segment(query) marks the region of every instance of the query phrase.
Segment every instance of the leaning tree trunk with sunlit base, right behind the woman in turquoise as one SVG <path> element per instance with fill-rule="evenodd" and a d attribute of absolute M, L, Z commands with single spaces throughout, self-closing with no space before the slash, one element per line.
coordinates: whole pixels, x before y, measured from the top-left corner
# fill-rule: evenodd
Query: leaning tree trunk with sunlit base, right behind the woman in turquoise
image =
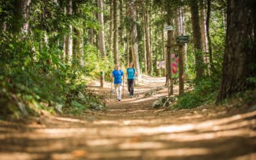
<path fill-rule="evenodd" d="M 138 81 L 141 81 L 141 72 L 140 72 L 140 63 L 139 63 L 139 54 L 138 54 L 138 35 L 137 35 L 137 26 L 136 26 L 136 6 L 134 1 L 127 1 L 129 6 L 129 16 L 131 17 L 131 44 L 132 44 L 132 60 L 134 67 L 138 73 Z"/>

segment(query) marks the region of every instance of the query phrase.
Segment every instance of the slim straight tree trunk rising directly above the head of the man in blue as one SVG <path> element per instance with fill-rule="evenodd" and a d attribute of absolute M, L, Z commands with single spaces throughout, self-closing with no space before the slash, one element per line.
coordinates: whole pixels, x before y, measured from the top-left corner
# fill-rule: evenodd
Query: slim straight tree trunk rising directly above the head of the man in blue
<path fill-rule="evenodd" d="M 114 63 L 118 64 L 119 63 L 119 58 L 118 58 L 118 0 L 113 0 L 113 12 L 114 12 Z"/>

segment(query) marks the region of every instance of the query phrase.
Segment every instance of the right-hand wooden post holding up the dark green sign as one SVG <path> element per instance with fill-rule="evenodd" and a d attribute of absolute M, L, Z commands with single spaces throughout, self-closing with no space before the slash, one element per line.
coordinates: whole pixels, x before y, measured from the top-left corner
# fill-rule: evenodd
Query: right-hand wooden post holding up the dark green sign
<path fill-rule="evenodd" d="M 184 45 L 179 45 L 179 94 L 184 93 Z"/>

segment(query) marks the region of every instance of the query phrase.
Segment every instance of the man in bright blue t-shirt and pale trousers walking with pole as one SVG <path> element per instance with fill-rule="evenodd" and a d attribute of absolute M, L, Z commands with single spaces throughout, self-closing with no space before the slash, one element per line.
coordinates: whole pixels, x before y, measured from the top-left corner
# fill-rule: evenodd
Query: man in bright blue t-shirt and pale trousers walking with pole
<path fill-rule="evenodd" d="M 118 90 L 117 96 L 116 96 L 116 99 L 118 99 L 118 101 L 121 100 L 122 76 L 123 76 L 123 79 L 124 79 L 124 72 L 122 70 L 120 70 L 119 65 L 116 65 L 116 69 L 113 70 L 113 72 L 111 74 L 111 78 L 113 79 L 113 77 L 114 77 L 115 92 L 116 92 L 116 88 Z M 112 79 L 111 79 L 111 81 L 112 81 Z"/>

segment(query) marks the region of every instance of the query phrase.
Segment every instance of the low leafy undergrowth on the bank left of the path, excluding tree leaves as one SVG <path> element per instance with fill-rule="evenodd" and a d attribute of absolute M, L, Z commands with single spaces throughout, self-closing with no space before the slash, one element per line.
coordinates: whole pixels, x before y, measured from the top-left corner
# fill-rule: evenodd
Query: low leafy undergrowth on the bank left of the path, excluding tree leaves
<path fill-rule="evenodd" d="M 45 112 L 80 115 L 86 109 L 106 109 L 104 99 L 88 90 L 84 81 L 84 76 L 92 76 L 100 67 L 85 68 L 76 60 L 65 63 L 58 47 L 35 51 L 35 45 L 31 38 L 20 40 L 13 35 L 0 43 L 0 118 Z M 100 56 L 93 51 L 88 54 Z"/>

